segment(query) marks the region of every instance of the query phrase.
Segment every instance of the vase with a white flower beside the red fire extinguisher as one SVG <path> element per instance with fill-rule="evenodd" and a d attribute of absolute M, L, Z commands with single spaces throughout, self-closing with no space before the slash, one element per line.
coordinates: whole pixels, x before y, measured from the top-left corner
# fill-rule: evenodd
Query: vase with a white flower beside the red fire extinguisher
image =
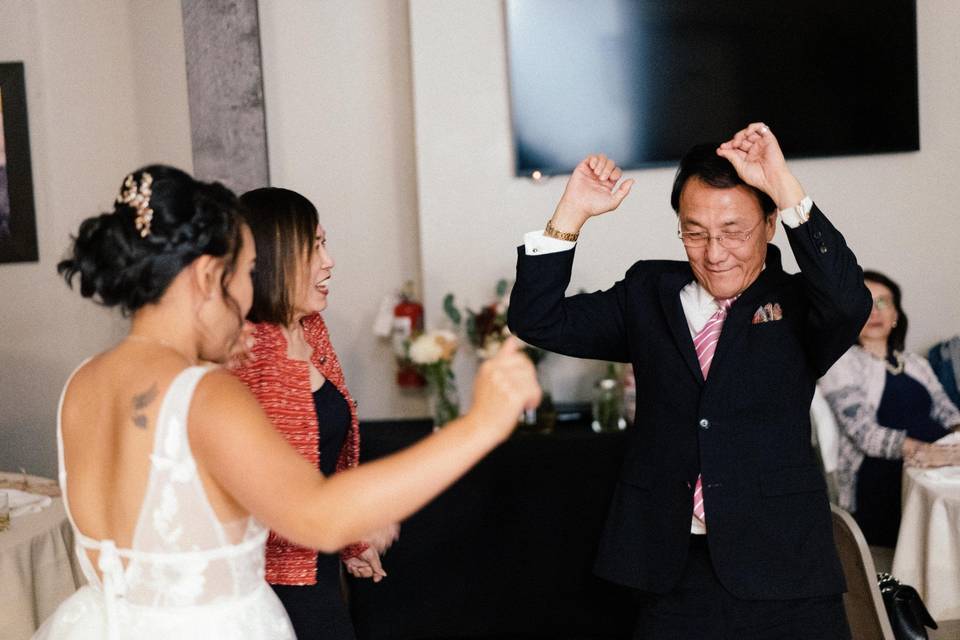
<path fill-rule="evenodd" d="M 460 415 L 457 380 L 451 367 L 456 352 L 457 336 L 451 331 L 423 333 L 410 343 L 410 360 L 427 380 L 435 429 Z"/>

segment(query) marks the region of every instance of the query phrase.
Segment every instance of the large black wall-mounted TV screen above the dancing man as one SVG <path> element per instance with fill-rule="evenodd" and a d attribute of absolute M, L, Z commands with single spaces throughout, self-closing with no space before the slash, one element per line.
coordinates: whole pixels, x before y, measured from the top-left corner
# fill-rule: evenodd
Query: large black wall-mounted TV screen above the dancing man
<path fill-rule="evenodd" d="M 517 175 L 770 126 L 788 157 L 920 148 L 914 0 L 507 0 Z"/>

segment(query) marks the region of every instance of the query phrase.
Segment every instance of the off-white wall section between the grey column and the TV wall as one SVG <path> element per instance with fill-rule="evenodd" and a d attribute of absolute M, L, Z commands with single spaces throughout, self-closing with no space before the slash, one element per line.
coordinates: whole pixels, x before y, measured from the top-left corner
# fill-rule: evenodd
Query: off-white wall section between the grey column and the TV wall
<path fill-rule="evenodd" d="M 362 419 L 426 415 L 373 336 L 419 281 L 406 3 L 260 1 L 270 181 L 307 196 L 336 260 L 324 318 Z"/>

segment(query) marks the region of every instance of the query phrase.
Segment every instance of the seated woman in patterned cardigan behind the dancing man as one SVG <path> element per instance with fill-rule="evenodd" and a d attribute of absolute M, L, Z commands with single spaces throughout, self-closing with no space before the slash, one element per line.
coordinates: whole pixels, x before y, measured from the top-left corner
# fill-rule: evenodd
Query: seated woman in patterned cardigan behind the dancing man
<path fill-rule="evenodd" d="M 872 545 L 893 547 L 900 529 L 903 463 L 960 464 L 960 446 L 930 444 L 960 426 L 960 412 L 925 359 L 904 351 L 900 287 L 864 272 L 873 311 L 852 347 L 820 380 L 840 425 L 837 489 Z"/>

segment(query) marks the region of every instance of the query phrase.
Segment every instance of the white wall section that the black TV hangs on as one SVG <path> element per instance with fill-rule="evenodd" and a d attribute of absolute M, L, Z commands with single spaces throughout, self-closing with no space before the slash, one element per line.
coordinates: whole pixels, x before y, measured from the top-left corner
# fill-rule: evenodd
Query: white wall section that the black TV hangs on
<path fill-rule="evenodd" d="M 917 4 L 921 151 L 791 164 L 861 264 L 901 283 L 908 347 L 925 349 L 960 332 L 960 5 Z M 536 184 L 511 175 L 502 4 L 411 0 L 410 22 L 426 305 L 438 309 L 447 291 L 479 304 L 497 278 L 514 273 L 514 247 L 524 231 L 542 228 L 564 179 Z M 606 288 L 641 257 L 683 258 L 669 204 L 673 169 L 628 177 L 637 184 L 620 211 L 581 235 L 574 290 Z M 777 244 L 786 247 L 782 231 Z M 556 367 L 560 360 L 550 358 Z M 585 395 L 595 369 L 563 368 L 548 375 L 555 394 Z"/>

